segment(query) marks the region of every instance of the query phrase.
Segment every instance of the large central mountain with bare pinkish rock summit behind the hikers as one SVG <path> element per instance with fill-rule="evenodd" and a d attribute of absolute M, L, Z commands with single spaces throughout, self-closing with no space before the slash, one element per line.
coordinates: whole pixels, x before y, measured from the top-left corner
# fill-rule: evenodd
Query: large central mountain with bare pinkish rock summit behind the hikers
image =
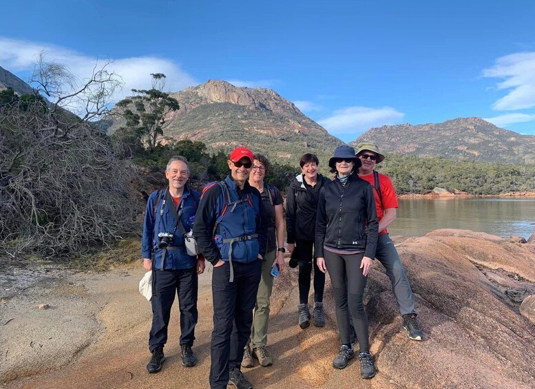
<path fill-rule="evenodd" d="M 326 160 L 343 143 L 273 90 L 211 80 L 171 96 L 180 109 L 172 115 L 165 138 L 200 140 L 225 151 L 246 145 L 277 162 L 293 163 L 306 152 Z M 121 124 L 117 120 L 109 133 Z"/>

